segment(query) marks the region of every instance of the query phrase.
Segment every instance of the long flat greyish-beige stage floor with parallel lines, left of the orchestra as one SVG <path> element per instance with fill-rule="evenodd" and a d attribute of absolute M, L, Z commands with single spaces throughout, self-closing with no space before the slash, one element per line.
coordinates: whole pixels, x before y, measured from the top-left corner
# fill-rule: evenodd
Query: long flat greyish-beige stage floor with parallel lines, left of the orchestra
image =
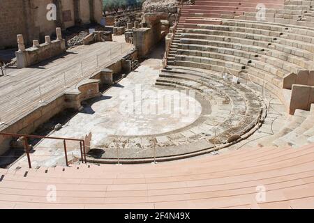
<path fill-rule="evenodd" d="M 82 45 L 36 66 L 8 69 L 7 76 L 0 77 L 0 130 L 118 61 L 132 47 L 115 42 Z"/>

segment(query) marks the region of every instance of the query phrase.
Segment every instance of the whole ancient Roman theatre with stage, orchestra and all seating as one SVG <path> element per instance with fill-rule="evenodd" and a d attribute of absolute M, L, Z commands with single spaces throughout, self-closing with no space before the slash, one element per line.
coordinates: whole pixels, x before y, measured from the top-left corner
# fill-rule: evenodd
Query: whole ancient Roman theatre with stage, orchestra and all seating
<path fill-rule="evenodd" d="M 147 1 L 125 26 L 89 1 L 106 30 L 76 47 L 60 2 L 3 41 L 0 208 L 314 208 L 314 1 Z"/>

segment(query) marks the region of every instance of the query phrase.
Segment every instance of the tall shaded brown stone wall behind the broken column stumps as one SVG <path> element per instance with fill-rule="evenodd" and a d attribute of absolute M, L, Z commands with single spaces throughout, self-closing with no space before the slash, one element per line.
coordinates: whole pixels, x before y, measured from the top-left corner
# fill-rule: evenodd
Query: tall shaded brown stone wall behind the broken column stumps
<path fill-rule="evenodd" d="M 16 47 L 17 34 L 22 34 L 25 43 L 31 45 L 32 40 L 43 40 L 45 36 L 52 35 L 56 27 L 66 29 L 74 26 L 77 20 L 86 24 L 92 22 L 91 18 L 100 22 L 103 17 L 101 0 L 0 1 L 0 49 Z M 48 21 L 46 18 L 49 3 L 57 6 L 57 21 Z"/>

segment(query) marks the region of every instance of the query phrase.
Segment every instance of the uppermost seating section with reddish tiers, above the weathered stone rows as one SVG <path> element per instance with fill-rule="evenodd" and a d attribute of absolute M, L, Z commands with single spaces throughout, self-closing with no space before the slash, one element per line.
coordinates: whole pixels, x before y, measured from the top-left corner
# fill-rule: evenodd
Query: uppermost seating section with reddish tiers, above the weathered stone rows
<path fill-rule="evenodd" d="M 195 1 L 195 5 L 181 7 L 180 19 L 182 23 L 194 24 L 212 24 L 206 18 L 256 21 L 257 11 L 262 6 L 265 7 L 261 11 L 264 16 L 262 20 L 306 27 L 314 25 L 311 1 Z M 186 24 L 179 26 L 184 27 Z"/>

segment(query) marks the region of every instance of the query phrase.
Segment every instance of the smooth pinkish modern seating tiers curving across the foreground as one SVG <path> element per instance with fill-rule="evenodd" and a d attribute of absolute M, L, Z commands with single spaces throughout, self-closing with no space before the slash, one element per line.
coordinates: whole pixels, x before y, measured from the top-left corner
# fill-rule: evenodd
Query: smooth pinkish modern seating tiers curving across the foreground
<path fill-rule="evenodd" d="M 0 169 L 0 208 L 314 208 L 313 174 L 313 144 L 156 165 Z M 260 190 L 265 200 L 255 199 Z"/>

